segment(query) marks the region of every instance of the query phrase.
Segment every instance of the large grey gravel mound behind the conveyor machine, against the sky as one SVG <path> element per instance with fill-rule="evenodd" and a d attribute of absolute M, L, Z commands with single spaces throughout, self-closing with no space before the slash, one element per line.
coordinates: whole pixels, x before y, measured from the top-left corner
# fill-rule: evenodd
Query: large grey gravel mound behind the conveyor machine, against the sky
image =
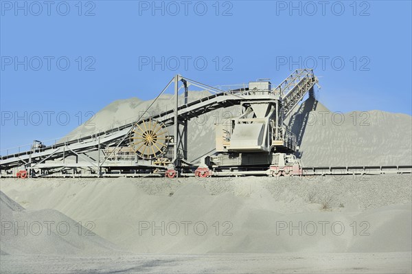
<path fill-rule="evenodd" d="M 191 91 L 189 101 L 209 93 Z M 182 100 L 180 98 L 179 100 Z M 162 95 L 149 113 L 172 108 L 172 95 Z M 117 100 L 69 133 L 68 139 L 94 133 L 102 128 L 135 121 L 152 100 Z M 231 106 L 194 118 L 188 123 L 188 159 L 196 161 L 215 149 L 215 124 L 237 117 L 240 109 Z M 125 121 L 127 119 L 127 121 Z M 412 165 L 412 117 L 385 111 L 332 112 L 321 102 L 308 98 L 286 119 L 297 135 L 297 155 L 305 166 Z M 172 134 L 172 128 L 169 128 Z M 67 139 L 66 138 L 66 139 Z M 201 140 L 201 141 L 199 141 Z"/>

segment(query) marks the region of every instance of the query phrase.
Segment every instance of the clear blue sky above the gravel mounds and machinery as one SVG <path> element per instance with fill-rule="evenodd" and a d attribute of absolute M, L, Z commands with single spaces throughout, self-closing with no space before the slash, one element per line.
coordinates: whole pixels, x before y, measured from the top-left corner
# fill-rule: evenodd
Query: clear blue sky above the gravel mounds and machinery
<path fill-rule="evenodd" d="M 411 115 L 411 1 L 0 4 L 1 149 L 62 137 L 114 100 L 155 98 L 176 73 L 276 85 L 313 67 L 331 111 Z"/>

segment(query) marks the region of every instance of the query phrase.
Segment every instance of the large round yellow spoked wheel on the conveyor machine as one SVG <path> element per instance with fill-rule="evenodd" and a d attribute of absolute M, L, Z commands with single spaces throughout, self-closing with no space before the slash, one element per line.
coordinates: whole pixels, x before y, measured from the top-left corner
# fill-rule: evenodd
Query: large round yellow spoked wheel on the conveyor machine
<path fill-rule="evenodd" d="M 165 153 L 168 144 L 168 129 L 156 120 L 136 123 L 130 133 L 130 146 L 142 159 L 160 157 Z"/>

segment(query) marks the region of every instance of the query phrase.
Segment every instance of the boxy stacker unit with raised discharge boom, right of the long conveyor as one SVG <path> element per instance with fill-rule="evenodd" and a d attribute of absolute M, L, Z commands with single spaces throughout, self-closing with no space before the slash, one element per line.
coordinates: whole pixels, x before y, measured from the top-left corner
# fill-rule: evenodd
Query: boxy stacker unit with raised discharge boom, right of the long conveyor
<path fill-rule="evenodd" d="M 245 171 L 260 168 L 270 176 L 301 175 L 301 164 L 293 155 L 296 137 L 284 118 L 317 82 L 312 71 L 295 71 L 274 90 L 268 81 L 249 82 L 249 88 L 240 93 L 245 97 L 240 102 L 241 115 L 217 126 L 216 151 L 220 153 L 211 155 L 206 165 Z"/>

